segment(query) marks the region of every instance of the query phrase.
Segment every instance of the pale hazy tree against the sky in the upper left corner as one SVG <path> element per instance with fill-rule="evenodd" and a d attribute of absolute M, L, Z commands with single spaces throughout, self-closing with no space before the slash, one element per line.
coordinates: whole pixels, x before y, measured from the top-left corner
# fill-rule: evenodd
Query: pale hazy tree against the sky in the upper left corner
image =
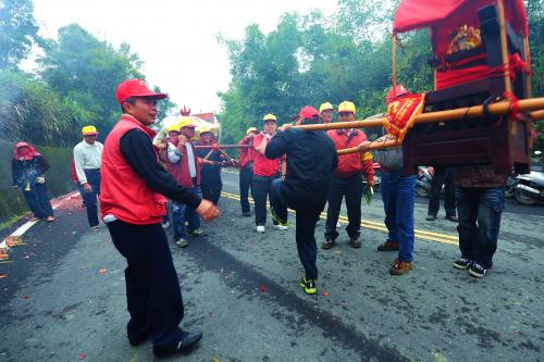
<path fill-rule="evenodd" d="M 0 0 L 0 68 L 15 67 L 40 42 L 32 0 Z"/>

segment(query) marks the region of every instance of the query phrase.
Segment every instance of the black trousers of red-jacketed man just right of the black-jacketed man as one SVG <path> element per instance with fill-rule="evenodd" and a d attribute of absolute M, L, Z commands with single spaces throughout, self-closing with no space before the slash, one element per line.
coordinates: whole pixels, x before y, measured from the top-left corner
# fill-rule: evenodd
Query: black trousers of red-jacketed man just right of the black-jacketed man
<path fill-rule="evenodd" d="M 355 174 L 350 177 L 331 177 L 329 189 L 329 208 L 326 209 L 325 238 L 335 240 L 338 237 L 336 223 L 338 222 L 342 199 L 346 199 L 348 225 L 346 232 L 351 239 L 358 239 L 361 229 L 361 200 L 362 175 Z"/>

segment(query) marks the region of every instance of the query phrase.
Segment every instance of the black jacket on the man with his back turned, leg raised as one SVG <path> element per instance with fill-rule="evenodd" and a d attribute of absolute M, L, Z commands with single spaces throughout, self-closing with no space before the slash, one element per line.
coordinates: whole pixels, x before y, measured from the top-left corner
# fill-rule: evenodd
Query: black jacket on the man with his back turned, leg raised
<path fill-rule="evenodd" d="M 338 164 L 334 142 L 322 130 L 289 128 L 277 132 L 267 145 L 269 159 L 286 154 L 287 174 L 283 188 L 290 208 L 323 208 L 331 173 Z"/>

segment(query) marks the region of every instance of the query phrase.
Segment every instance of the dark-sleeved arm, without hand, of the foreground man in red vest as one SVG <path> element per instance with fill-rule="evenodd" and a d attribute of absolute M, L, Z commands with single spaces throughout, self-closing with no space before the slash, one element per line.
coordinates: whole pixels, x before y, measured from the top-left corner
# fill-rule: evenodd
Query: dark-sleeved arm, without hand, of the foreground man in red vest
<path fill-rule="evenodd" d="M 147 186 L 174 201 L 197 209 L 201 199 L 180 186 L 157 161 L 151 139 L 139 129 L 127 132 L 120 140 L 121 153 L 126 162 L 146 182 Z"/>

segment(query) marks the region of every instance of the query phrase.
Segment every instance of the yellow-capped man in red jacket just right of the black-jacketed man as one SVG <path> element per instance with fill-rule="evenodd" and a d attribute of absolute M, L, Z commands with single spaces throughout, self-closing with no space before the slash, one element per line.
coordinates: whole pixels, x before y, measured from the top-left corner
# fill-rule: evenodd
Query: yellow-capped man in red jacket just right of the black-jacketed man
<path fill-rule="evenodd" d="M 338 121 L 355 121 L 355 104 L 344 101 L 338 105 Z M 362 130 L 331 129 L 329 137 L 334 142 L 336 150 L 349 147 L 357 147 L 367 140 Z M 360 248 L 359 241 L 361 228 L 361 199 L 362 199 L 362 174 L 366 175 L 369 186 L 374 184 L 374 170 L 372 168 L 372 158 L 367 158 L 359 153 L 344 154 L 338 157 L 338 166 L 333 172 L 331 178 L 331 189 L 329 192 L 329 208 L 326 210 L 325 241 L 323 249 L 331 249 L 334 246 L 338 232 L 336 223 L 342 207 L 342 199 L 346 199 L 348 225 L 346 227 L 349 236 L 349 245 L 353 248 Z"/>

